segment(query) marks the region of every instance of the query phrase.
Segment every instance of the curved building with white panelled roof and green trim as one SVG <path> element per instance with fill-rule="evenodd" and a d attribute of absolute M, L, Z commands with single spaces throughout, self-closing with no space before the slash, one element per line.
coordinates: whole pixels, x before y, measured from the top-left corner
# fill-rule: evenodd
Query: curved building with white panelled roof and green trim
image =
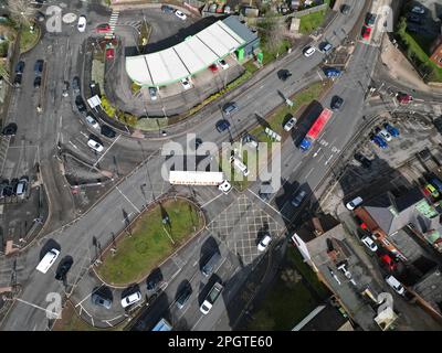
<path fill-rule="evenodd" d="M 167 86 L 193 76 L 232 53 L 241 62 L 252 55 L 259 45 L 259 36 L 238 17 L 231 15 L 177 45 L 126 57 L 126 72 L 139 86 Z"/>

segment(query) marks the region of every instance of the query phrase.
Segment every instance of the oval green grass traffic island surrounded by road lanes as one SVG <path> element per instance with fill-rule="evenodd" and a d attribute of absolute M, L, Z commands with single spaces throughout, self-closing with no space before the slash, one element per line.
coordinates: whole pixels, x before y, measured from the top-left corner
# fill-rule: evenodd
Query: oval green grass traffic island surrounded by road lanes
<path fill-rule="evenodd" d="M 168 200 L 162 208 L 171 227 L 165 228 L 159 205 L 140 216 L 131 226 L 131 236 L 123 235 L 116 254 L 107 253 L 98 267 L 104 281 L 127 285 L 140 280 L 203 225 L 196 207 L 185 200 Z"/>

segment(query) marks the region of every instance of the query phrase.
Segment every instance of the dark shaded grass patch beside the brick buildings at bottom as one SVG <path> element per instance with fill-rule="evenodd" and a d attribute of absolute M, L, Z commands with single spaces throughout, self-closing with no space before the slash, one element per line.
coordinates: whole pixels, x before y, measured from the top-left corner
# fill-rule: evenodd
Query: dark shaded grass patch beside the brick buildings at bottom
<path fill-rule="evenodd" d="M 292 248 L 287 249 L 285 264 L 276 275 L 265 298 L 252 312 L 253 320 L 249 323 L 248 330 L 292 330 L 328 297 L 316 275 L 302 263 L 301 255 L 297 253 Z M 294 271 L 301 274 L 311 286 L 301 278 L 296 281 L 294 276 L 283 276 L 283 274 L 293 275 Z"/>

